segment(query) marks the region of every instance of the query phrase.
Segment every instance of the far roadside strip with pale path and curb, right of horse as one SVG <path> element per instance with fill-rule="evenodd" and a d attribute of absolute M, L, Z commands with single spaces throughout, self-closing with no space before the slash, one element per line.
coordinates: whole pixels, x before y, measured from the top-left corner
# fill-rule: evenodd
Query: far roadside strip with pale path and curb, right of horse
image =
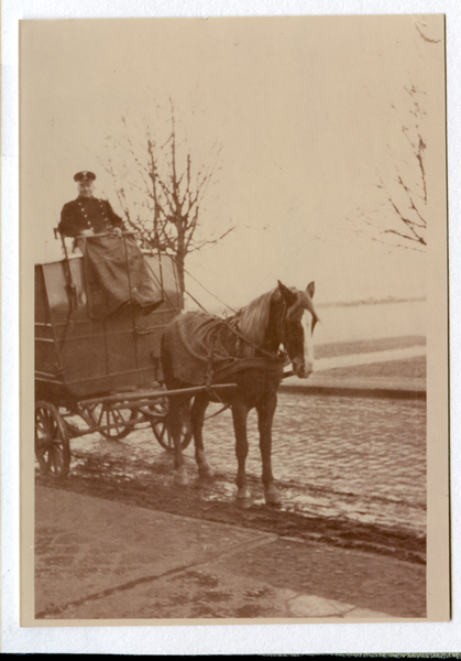
<path fill-rule="evenodd" d="M 426 346 L 421 342 L 402 337 L 320 345 L 314 373 L 308 379 L 286 378 L 281 390 L 425 400 Z M 372 350 L 373 345 L 378 350 Z"/>

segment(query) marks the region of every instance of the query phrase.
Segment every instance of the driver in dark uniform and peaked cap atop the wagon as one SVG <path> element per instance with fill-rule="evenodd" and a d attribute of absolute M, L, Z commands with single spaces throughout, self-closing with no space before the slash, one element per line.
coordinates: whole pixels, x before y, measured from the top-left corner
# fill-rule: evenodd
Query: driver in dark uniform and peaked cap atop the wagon
<path fill-rule="evenodd" d="M 114 231 L 121 235 L 122 219 L 113 212 L 107 199 L 94 197 L 96 174 L 77 172 L 78 197 L 63 206 L 58 230 L 65 237 L 85 237 L 94 234 Z"/>

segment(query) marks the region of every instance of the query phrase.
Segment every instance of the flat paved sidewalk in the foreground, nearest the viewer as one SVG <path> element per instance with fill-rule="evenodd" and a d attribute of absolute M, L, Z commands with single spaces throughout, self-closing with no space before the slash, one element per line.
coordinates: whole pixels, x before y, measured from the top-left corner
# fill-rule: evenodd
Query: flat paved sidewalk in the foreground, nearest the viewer
<path fill-rule="evenodd" d="M 426 568 L 388 556 L 42 486 L 35 534 L 39 625 L 425 617 Z"/>

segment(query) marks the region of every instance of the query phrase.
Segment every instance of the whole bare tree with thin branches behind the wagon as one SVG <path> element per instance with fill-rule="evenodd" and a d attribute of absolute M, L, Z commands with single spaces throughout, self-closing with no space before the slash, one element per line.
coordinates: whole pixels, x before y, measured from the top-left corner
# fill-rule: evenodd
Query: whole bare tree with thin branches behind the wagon
<path fill-rule="evenodd" d="M 103 166 L 112 177 L 128 225 L 142 231 L 143 246 L 174 258 L 184 307 L 186 257 L 218 243 L 233 229 L 219 236 L 210 232 L 207 238 L 197 231 L 205 215 L 204 198 L 219 170 L 221 145 L 211 148 L 207 165 L 195 167 L 190 149 L 185 142 L 179 144 L 173 102 L 169 134 L 161 143 L 149 128 L 142 142 L 136 143 L 127 119 L 122 118 L 122 122 L 124 137 L 120 142 L 111 142 L 111 149 L 118 151 L 119 158 L 127 153 L 129 160 L 123 160 L 122 171 L 116 172 L 111 158 Z"/>

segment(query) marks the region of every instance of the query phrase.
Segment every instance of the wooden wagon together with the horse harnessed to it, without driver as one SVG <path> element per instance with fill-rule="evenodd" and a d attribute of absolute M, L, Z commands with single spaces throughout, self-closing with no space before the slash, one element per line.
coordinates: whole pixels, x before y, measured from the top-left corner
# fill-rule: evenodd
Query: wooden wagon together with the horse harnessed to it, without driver
<path fill-rule="evenodd" d="M 120 440 L 147 425 L 174 449 L 177 485 L 187 484 L 182 451 L 193 435 L 199 475 L 209 478 L 202 426 L 209 402 L 218 401 L 232 410 L 238 499 L 250 502 L 246 418 L 256 409 L 265 499 L 278 503 L 271 466 L 276 392 L 288 373 L 305 379 L 312 371 L 314 282 L 306 291 L 278 282 L 232 317 L 179 316 L 171 257 L 143 258 L 124 235 L 95 235 L 84 251 L 69 258 L 65 249 L 64 260 L 35 268 L 35 454 L 42 470 L 68 474 L 73 437 L 99 432 Z"/>

